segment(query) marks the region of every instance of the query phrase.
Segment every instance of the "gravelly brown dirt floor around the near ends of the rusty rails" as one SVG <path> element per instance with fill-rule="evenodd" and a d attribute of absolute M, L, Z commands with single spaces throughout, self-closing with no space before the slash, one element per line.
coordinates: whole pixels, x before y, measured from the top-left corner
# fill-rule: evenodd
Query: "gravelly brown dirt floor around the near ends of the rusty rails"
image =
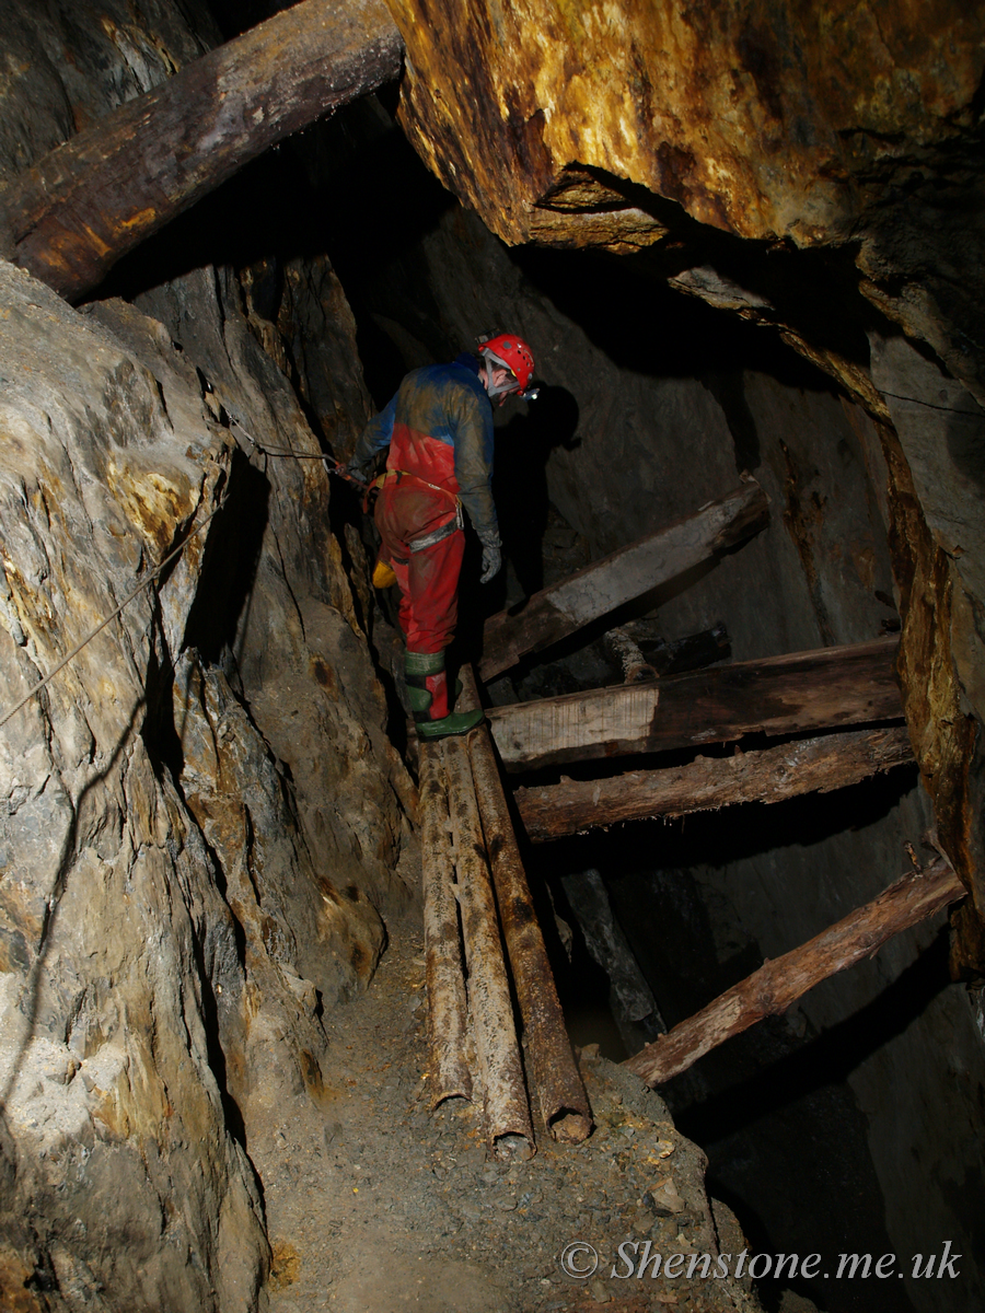
<path fill-rule="evenodd" d="M 272 1313 L 759 1309 L 747 1280 L 713 1275 L 743 1239 L 708 1203 L 704 1155 L 620 1067 L 584 1050 L 594 1133 L 571 1148 L 540 1132 L 525 1162 L 490 1157 L 481 1104 L 429 1111 L 420 934 L 390 944 L 326 1029 L 324 1140 L 284 1124 L 265 1173 Z M 655 1254 L 686 1255 L 682 1274 L 654 1278 Z M 692 1254 L 712 1255 L 712 1275 L 699 1258 L 688 1279 Z"/>

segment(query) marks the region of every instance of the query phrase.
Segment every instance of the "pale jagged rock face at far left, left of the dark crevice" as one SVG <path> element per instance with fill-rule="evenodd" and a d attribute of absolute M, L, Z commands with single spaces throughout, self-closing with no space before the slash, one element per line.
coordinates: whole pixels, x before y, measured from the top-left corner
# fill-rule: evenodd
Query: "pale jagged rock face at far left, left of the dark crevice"
<path fill-rule="evenodd" d="M 12 704 L 210 513 L 230 449 L 176 398 L 168 411 L 110 334 L 9 267 L 3 302 Z M 5 1291 L 32 1279 L 97 1308 L 104 1289 L 209 1306 L 210 1287 L 250 1300 L 261 1271 L 260 1200 L 226 1130 L 206 1020 L 223 982 L 238 993 L 234 922 L 201 831 L 142 737 L 202 546 L 198 536 L 167 584 L 134 599 L 4 727 Z"/>

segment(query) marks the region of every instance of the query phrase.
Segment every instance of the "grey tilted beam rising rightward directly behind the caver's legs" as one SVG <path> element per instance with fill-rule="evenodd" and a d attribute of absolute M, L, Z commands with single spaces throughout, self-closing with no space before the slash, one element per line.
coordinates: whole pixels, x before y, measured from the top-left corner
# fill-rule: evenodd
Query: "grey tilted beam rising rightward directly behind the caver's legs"
<path fill-rule="evenodd" d="M 770 517 L 766 492 L 755 479 L 709 502 L 692 516 L 630 542 L 603 561 L 535 593 L 523 611 L 500 611 L 486 621 L 478 674 L 489 681 L 523 656 L 542 651 L 567 634 L 642 597 L 684 571 L 758 533 Z"/>

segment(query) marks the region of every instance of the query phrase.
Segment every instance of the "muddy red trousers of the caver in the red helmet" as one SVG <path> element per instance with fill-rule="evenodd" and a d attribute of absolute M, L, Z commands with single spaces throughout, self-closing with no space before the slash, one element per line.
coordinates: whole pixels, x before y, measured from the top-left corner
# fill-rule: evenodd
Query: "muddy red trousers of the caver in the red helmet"
<path fill-rule="evenodd" d="M 423 551 L 410 549 L 411 540 L 433 533 L 454 516 L 447 494 L 407 482 L 387 481 L 376 499 L 380 557 L 397 575 L 401 629 L 412 653 L 440 653 L 454 635 L 465 534 L 458 529 Z"/>

